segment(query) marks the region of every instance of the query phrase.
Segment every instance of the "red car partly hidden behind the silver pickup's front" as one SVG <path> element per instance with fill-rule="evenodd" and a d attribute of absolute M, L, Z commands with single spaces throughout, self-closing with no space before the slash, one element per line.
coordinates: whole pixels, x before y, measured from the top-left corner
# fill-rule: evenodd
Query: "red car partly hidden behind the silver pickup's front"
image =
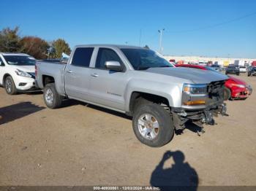
<path fill-rule="evenodd" d="M 199 66 L 192 64 L 176 64 L 176 67 L 216 71 L 209 66 Z M 227 79 L 227 81 L 225 82 L 225 100 L 233 100 L 237 98 L 246 99 L 248 95 L 252 94 L 252 87 L 250 85 L 247 85 L 246 82 L 236 77 L 228 77 L 229 79 Z"/>

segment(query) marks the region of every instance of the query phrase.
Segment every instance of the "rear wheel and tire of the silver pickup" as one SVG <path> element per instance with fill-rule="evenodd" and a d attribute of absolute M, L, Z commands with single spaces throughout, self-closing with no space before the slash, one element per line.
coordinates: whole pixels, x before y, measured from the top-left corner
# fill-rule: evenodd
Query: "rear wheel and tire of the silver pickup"
<path fill-rule="evenodd" d="M 56 109 L 61 106 L 63 96 L 59 95 L 54 83 L 45 85 L 43 96 L 45 105 L 48 106 L 48 108 Z"/>

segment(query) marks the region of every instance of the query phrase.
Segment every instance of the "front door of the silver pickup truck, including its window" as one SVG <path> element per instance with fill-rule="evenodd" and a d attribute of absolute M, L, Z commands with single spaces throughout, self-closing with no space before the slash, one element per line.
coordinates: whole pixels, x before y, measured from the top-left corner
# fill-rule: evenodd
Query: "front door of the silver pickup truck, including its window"
<path fill-rule="evenodd" d="M 91 68 L 89 91 L 91 101 L 108 106 L 112 109 L 124 111 L 124 91 L 128 75 L 124 71 L 110 71 L 106 69 L 106 61 L 118 61 L 124 65 L 115 50 L 100 47 L 95 66 Z"/>

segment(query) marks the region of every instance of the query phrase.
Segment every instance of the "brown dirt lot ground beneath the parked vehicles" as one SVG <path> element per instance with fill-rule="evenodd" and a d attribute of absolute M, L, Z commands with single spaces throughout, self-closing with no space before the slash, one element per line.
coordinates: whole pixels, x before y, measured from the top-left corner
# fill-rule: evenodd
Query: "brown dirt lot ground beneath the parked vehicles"
<path fill-rule="evenodd" d="M 239 78 L 256 90 L 256 77 Z M 256 93 L 227 109 L 203 136 L 188 125 L 151 148 L 122 114 L 76 101 L 51 110 L 41 93 L 0 88 L 0 185 L 256 185 Z"/>

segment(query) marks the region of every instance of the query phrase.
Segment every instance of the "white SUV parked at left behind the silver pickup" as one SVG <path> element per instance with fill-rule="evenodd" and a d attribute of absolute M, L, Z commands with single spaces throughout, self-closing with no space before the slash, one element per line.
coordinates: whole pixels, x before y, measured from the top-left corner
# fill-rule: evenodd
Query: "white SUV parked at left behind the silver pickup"
<path fill-rule="evenodd" d="M 30 55 L 0 52 L 0 85 L 8 94 L 35 87 L 35 63 Z"/>

